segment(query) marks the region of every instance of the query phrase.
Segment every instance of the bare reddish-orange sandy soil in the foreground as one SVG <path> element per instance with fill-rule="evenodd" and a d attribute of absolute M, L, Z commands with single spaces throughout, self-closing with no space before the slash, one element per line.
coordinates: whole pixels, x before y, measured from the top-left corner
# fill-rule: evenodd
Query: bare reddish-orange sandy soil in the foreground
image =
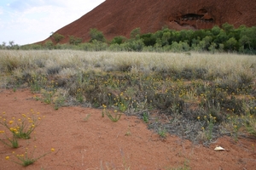
<path fill-rule="evenodd" d="M 45 116 L 32 133 L 32 139 L 19 139 L 20 147 L 12 149 L 0 144 L 0 169 L 255 169 L 255 139 L 230 137 L 217 139 L 209 147 L 192 144 L 189 140 L 159 134 L 148 130 L 147 124 L 137 116 L 121 116 L 119 122 L 102 117 L 102 110 L 79 106 L 61 107 L 55 111 L 51 105 L 36 101 L 28 89 L 16 92 L 0 89 L 0 114 L 18 117 L 31 109 Z M 90 116 L 89 116 L 90 115 Z M 89 116 L 87 120 L 84 120 Z M 0 125 L 0 130 L 5 130 Z M 3 139 L 3 136 L 0 136 Z M 50 153 L 28 167 L 13 161 L 17 154 L 32 150 L 34 156 Z M 215 151 L 216 146 L 225 150 Z M 10 156 L 10 160 L 5 160 Z"/>

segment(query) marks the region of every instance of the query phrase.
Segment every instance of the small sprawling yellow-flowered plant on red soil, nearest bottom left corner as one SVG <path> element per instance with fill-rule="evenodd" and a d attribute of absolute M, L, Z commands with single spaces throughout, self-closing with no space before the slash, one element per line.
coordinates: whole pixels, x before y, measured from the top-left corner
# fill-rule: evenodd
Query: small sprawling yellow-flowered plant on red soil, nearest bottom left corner
<path fill-rule="evenodd" d="M 32 150 L 31 156 L 28 156 L 28 148 L 26 148 L 25 154 L 20 154 L 20 155 L 18 154 L 18 155 L 15 155 L 15 152 L 13 152 L 13 154 L 15 155 L 15 157 L 18 159 L 18 161 L 13 161 L 13 162 L 15 162 L 15 163 L 17 163 L 17 164 L 19 164 L 19 165 L 21 165 L 21 166 L 23 166 L 23 167 L 27 167 L 27 166 L 33 164 L 35 161 L 38 161 L 38 159 L 40 159 L 40 158 L 42 158 L 42 157 L 48 155 L 51 151 L 52 151 L 52 152 L 55 151 L 55 149 L 52 148 L 49 152 L 45 153 L 44 155 L 38 156 L 38 157 L 36 157 L 36 158 L 33 158 L 33 154 L 34 154 L 36 148 L 37 148 L 37 147 L 34 146 L 34 149 Z M 10 157 L 9 157 L 9 156 L 5 156 L 5 159 L 6 159 L 6 160 L 10 160 Z"/>

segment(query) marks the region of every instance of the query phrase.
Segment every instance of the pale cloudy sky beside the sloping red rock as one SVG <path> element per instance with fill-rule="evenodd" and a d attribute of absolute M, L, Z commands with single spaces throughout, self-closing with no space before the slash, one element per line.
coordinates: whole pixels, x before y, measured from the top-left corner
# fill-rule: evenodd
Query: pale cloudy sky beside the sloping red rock
<path fill-rule="evenodd" d="M 104 0 L 0 0 L 0 44 L 39 42 Z"/>

